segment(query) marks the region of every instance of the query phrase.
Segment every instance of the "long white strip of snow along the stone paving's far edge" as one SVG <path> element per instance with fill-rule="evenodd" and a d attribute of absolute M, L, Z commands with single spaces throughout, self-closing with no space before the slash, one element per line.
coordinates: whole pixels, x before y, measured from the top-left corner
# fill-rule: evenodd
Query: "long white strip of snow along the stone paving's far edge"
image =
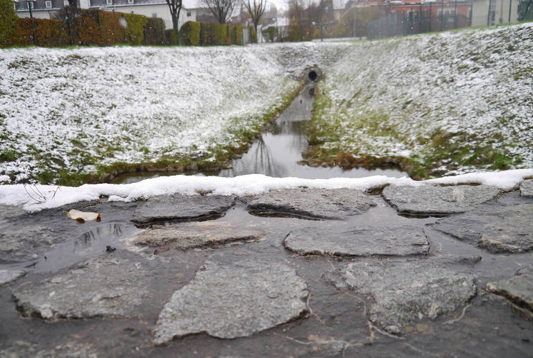
<path fill-rule="evenodd" d="M 1 205 L 22 205 L 28 212 L 60 207 L 78 201 L 92 201 L 100 196 L 109 196 L 108 201 L 135 201 L 137 198 L 165 194 L 198 195 L 198 191 L 211 191 L 218 195 L 261 194 L 272 189 L 309 187 L 313 189 L 352 188 L 366 190 L 380 185 L 433 185 L 480 182 L 501 189 L 512 189 L 524 178 L 533 177 L 533 169 L 468 173 L 437 179 L 416 181 L 407 177 L 369 176 L 366 178 L 271 178 L 262 174 L 221 178 L 217 176 L 162 176 L 133 184 L 86 184 L 81 187 L 57 187 L 53 185 L 0 185 Z M 40 194 L 36 194 L 35 190 Z M 29 194 L 28 194 L 29 193 Z M 31 198 L 31 196 L 33 198 Z M 46 199 L 44 199 L 45 197 Z M 42 199 L 37 202 L 35 199 Z"/>

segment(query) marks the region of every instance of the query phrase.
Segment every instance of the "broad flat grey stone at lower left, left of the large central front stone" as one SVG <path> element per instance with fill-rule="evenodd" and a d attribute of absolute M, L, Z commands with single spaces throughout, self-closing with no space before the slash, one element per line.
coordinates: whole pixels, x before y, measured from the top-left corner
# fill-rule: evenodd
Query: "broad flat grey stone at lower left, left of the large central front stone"
<path fill-rule="evenodd" d="M 26 284 L 13 297 L 24 316 L 51 320 L 135 316 L 149 280 L 151 275 L 139 263 L 103 255 Z"/>

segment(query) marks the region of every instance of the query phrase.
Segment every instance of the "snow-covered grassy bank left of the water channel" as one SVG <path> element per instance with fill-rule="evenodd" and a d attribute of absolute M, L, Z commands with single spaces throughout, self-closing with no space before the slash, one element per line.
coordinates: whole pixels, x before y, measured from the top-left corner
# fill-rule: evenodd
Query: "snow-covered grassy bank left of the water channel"
<path fill-rule="evenodd" d="M 0 184 L 217 169 L 346 44 L 0 51 Z"/>

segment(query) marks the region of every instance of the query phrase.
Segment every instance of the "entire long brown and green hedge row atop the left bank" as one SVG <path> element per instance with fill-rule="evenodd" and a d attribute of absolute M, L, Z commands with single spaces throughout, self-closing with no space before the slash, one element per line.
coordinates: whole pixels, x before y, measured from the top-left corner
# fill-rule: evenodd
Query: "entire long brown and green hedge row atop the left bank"
<path fill-rule="evenodd" d="M 11 1 L 11 0 L 9 0 Z M 0 0 L 0 8 L 6 0 Z M 133 45 L 230 45 L 243 44 L 242 26 L 186 22 L 176 33 L 173 29 L 164 30 L 160 18 L 147 18 L 144 15 L 122 14 L 103 10 L 60 11 L 60 19 L 33 19 L 35 39 L 29 18 L 13 18 L 10 7 L 0 14 L 0 47 L 37 46 L 56 47 L 69 45 L 111 46 L 115 44 Z M 69 21 L 70 17 L 70 21 Z M 121 22 L 126 22 L 126 28 Z M 7 26 L 10 25 L 10 26 Z M 3 40 L 3 41 L 2 41 Z M 257 42 L 257 35 L 251 28 L 251 40 Z"/>

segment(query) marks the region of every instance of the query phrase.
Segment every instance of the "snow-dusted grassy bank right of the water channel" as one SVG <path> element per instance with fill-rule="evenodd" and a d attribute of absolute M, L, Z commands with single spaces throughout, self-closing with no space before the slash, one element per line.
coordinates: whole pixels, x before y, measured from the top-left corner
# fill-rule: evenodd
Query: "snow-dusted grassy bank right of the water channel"
<path fill-rule="evenodd" d="M 308 162 L 532 167 L 532 53 L 533 24 L 357 44 L 320 85 Z"/>

